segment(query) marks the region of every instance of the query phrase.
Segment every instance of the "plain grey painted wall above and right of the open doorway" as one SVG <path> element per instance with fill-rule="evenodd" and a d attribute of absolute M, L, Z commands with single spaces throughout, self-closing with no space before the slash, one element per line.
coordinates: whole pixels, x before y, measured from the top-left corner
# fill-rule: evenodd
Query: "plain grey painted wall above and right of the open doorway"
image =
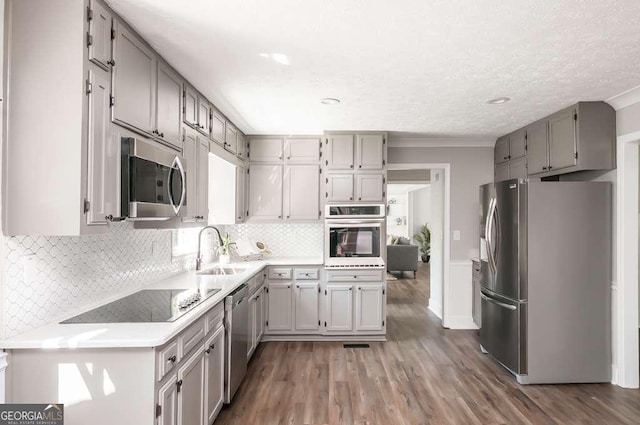
<path fill-rule="evenodd" d="M 393 147 L 393 140 L 389 145 L 390 164 L 451 164 L 451 230 L 460 231 L 460 240 L 451 238 L 451 259 L 468 260 L 477 256 L 480 237 L 478 187 L 493 181 L 493 148 L 400 148 Z"/>

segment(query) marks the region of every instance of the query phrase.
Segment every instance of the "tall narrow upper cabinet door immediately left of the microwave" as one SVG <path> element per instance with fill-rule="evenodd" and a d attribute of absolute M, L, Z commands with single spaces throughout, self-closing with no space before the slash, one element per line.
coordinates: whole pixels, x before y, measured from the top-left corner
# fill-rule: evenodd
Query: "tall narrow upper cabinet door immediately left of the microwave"
<path fill-rule="evenodd" d="M 110 82 L 101 69 L 89 70 L 87 224 L 104 225 L 108 215 L 118 216 L 118 161 L 120 139 L 110 120 Z M 113 126 L 116 127 L 116 126 Z"/>

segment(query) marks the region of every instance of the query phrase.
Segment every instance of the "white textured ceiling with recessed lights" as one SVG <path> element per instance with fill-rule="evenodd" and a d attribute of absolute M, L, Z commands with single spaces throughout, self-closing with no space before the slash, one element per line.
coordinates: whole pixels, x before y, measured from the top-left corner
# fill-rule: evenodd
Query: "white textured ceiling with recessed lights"
<path fill-rule="evenodd" d="M 498 136 L 640 85 L 638 0 L 107 1 L 252 134 Z"/>

